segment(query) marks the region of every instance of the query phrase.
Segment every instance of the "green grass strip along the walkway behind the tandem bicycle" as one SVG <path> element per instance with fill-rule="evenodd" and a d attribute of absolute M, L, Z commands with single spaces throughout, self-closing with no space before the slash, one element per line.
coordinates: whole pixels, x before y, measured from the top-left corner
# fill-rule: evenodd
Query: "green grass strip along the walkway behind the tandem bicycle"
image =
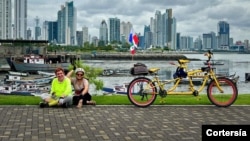
<path fill-rule="evenodd" d="M 97 105 L 131 105 L 127 95 L 93 95 Z M 168 95 L 162 103 L 160 96 L 153 105 L 211 105 L 207 95 Z M 38 105 L 40 97 L 0 95 L 0 105 Z M 233 105 L 250 105 L 250 94 L 239 94 Z"/>

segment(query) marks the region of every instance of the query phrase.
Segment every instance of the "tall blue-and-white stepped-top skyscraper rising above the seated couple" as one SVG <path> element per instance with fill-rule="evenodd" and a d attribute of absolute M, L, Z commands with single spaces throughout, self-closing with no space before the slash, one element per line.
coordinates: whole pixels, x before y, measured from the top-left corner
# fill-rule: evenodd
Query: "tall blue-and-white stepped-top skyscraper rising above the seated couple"
<path fill-rule="evenodd" d="M 58 43 L 66 45 L 76 44 L 77 13 L 74 2 L 66 2 L 57 13 Z"/>

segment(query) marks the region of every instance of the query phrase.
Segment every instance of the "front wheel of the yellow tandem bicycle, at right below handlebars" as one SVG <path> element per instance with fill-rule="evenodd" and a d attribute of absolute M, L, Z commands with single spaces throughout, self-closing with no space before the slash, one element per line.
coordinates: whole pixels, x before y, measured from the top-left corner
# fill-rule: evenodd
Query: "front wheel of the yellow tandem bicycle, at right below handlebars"
<path fill-rule="evenodd" d="M 223 92 L 221 93 L 212 80 L 207 87 L 207 96 L 214 105 L 218 107 L 228 107 L 232 105 L 238 96 L 238 89 L 235 83 L 228 78 L 217 78 Z"/>

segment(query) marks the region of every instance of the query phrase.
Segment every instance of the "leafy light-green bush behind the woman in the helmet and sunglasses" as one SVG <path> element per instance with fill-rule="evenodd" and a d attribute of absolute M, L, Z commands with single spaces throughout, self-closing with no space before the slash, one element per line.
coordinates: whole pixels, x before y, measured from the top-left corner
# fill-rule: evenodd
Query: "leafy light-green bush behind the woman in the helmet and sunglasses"
<path fill-rule="evenodd" d="M 103 70 L 101 68 L 90 67 L 90 66 L 84 64 L 82 60 L 76 60 L 74 62 L 74 64 L 77 68 L 83 68 L 85 70 L 85 75 L 84 75 L 85 78 L 87 78 L 89 80 L 90 84 L 95 85 L 96 90 L 102 90 L 104 83 L 102 80 L 97 78 L 97 76 L 99 76 L 103 72 Z M 74 65 L 71 64 L 69 66 L 69 70 L 72 70 L 73 68 L 74 68 Z M 73 74 L 73 77 L 74 76 L 75 76 L 75 73 Z"/>

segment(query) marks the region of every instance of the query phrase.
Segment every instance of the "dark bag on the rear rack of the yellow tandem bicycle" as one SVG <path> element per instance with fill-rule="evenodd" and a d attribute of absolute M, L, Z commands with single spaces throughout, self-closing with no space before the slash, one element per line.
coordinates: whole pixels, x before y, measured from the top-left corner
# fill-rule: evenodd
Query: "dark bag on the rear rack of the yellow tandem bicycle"
<path fill-rule="evenodd" d="M 134 67 L 131 68 L 130 73 L 132 75 L 147 75 L 148 68 L 143 63 L 136 63 L 134 64 Z"/>

